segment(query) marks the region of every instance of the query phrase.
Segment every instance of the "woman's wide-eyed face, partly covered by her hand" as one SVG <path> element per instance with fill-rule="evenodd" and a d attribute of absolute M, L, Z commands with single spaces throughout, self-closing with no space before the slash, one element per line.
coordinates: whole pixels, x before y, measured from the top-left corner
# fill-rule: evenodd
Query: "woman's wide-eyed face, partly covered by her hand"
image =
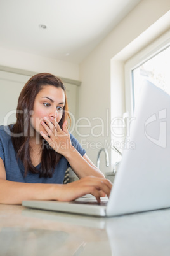
<path fill-rule="evenodd" d="M 63 115 L 63 107 L 65 106 L 65 94 L 62 88 L 56 88 L 52 85 L 46 85 L 42 87 L 42 90 L 37 94 L 33 114 L 30 118 L 30 124 L 36 132 L 47 132 L 41 125 L 43 117 L 47 117 L 49 120 L 56 119 L 56 122 L 60 122 Z"/>

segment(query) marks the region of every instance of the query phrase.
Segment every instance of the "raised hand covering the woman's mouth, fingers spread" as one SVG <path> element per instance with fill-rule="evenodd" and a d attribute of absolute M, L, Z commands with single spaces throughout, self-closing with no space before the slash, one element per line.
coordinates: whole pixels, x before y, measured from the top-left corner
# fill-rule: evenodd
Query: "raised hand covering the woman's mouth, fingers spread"
<path fill-rule="evenodd" d="M 63 129 L 61 129 L 55 119 L 51 118 L 51 120 L 49 120 L 47 117 L 44 117 L 43 119 L 44 122 L 42 121 L 41 124 L 48 135 L 40 131 L 41 136 L 46 139 L 53 150 L 61 155 L 67 155 L 67 152 L 72 149 L 70 134 L 67 130 L 67 121 L 63 123 Z"/>

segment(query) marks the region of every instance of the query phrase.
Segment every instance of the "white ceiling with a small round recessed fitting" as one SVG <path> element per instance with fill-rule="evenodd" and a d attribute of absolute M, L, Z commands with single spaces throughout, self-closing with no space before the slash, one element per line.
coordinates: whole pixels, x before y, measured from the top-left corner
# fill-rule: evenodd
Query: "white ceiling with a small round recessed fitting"
<path fill-rule="evenodd" d="M 78 64 L 140 1 L 0 0 L 0 47 Z"/>

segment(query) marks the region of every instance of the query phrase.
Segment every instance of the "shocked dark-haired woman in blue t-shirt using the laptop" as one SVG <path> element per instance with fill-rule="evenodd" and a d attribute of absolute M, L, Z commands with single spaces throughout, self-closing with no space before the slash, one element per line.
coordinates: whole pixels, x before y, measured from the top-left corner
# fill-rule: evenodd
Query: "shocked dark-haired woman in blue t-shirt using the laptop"
<path fill-rule="evenodd" d="M 0 127 L 0 203 L 109 196 L 112 184 L 69 134 L 68 117 L 61 80 L 49 73 L 30 78 L 18 99 L 16 124 Z M 63 185 L 67 166 L 80 180 Z"/>

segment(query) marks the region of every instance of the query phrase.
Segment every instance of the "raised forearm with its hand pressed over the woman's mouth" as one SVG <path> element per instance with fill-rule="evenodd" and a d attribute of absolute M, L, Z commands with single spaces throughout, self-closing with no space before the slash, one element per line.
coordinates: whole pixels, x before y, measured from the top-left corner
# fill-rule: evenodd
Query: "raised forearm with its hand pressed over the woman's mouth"
<path fill-rule="evenodd" d="M 48 141 L 49 145 L 53 150 L 63 155 L 69 162 L 74 173 L 79 177 L 83 178 L 86 176 L 96 176 L 105 178 L 103 173 L 91 162 L 88 156 L 85 154 L 83 157 L 77 150 L 72 146 L 70 141 L 70 134 L 67 131 L 67 121 L 63 124 L 63 130 L 56 120 L 46 120 L 46 124 L 42 124 L 44 129 L 48 132 L 50 138 L 43 132 L 42 137 Z"/>

